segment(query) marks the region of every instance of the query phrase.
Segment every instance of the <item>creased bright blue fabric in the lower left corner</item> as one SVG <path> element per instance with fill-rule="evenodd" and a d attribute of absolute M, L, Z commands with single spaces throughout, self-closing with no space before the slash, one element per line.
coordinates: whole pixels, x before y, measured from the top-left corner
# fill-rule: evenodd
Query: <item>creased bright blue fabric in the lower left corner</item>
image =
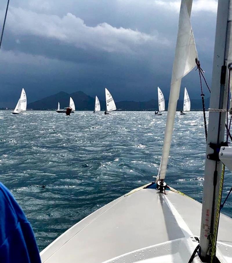
<path fill-rule="evenodd" d="M 13 195 L 1 182 L 0 262 L 41 263 L 32 227 Z"/>

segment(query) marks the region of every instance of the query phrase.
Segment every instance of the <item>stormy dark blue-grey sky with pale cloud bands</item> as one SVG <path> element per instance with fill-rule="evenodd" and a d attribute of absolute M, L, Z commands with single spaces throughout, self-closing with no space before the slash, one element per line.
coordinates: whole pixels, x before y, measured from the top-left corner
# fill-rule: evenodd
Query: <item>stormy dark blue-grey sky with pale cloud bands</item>
<path fill-rule="evenodd" d="M 7 0 L 0 1 L 3 25 Z M 0 107 L 13 107 L 22 87 L 28 102 L 59 91 L 116 101 L 168 99 L 180 1 L 10 0 L 0 51 Z M 211 83 L 217 1 L 193 0 L 197 52 Z M 199 77 L 182 80 L 200 98 Z M 207 94 L 207 92 L 205 92 Z"/>

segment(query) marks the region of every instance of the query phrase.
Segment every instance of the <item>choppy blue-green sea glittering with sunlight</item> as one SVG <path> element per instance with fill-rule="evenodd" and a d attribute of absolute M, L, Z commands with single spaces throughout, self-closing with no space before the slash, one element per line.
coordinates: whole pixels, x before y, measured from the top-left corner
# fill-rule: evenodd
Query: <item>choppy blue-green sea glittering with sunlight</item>
<path fill-rule="evenodd" d="M 40 250 L 88 214 L 154 180 L 165 121 L 166 112 L 0 111 L 0 181 L 30 220 Z M 177 113 L 168 185 L 201 202 L 204 158 L 202 112 Z M 223 200 L 230 187 L 226 171 Z M 232 217 L 231 196 L 222 211 Z"/>

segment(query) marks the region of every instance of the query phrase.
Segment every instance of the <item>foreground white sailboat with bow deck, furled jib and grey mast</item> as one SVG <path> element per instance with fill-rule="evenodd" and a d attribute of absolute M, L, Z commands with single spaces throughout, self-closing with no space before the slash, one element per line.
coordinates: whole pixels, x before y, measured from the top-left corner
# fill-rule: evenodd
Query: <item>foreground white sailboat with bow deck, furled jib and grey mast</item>
<path fill-rule="evenodd" d="M 154 182 L 148 183 L 90 214 L 41 251 L 43 263 L 232 262 L 232 219 L 218 214 L 216 207 L 213 207 L 219 194 L 221 161 L 218 158 L 213 160 L 211 156 L 207 157 L 208 154 L 217 152 L 210 148 L 209 143 L 224 139 L 226 103 L 223 103 L 220 89 L 227 94 L 228 86 L 220 83 L 220 76 L 221 66 L 227 65 L 226 59 L 232 62 L 231 52 L 230 56 L 225 58 L 225 54 L 228 54 L 227 49 L 231 48 L 232 44 L 230 35 L 232 31 L 230 28 L 227 30 L 227 21 L 231 23 L 230 17 L 228 18 L 229 0 L 218 3 L 210 107 L 215 110 L 219 105 L 219 110 L 209 112 L 209 145 L 206 150 L 203 205 L 168 186 L 166 194 L 163 194 L 165 186 L 163 180 L 167 169 L 181 79 L 194 68 L 197 58 L 190 23 L 191 7 L 191 0 L 182 0 L 163 156 L 158 178 L 160 189 L 156 189 Z M 226 39 L 230 43 L 226 43 Z M 228 80 L 228 74 L 226 75 Z M 218 125 L 221 129 L 218 129 Z M 218 174 L 216 178 L 213 176 L 215 169 Z M 199 247 L 201 249 L 197 253 Z M 215 255 L 218 261 L 215 260 Z"/>

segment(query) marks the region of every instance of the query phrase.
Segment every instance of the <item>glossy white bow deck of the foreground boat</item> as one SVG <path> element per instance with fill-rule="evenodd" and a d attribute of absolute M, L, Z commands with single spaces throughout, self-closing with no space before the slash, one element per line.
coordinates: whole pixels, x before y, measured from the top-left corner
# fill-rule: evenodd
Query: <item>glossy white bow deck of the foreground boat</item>
<path fill-rule="evenodd" d="M 105 205 L 46 247 L 42 262 L 188 262 L 198 244 L 191 236 L 200 236 L 202 206 L 166 193 L 142 189 Z M 218 245 L 225 262 L 232 258 L 231 232 L 232 219 L 221 214 Z"/>

